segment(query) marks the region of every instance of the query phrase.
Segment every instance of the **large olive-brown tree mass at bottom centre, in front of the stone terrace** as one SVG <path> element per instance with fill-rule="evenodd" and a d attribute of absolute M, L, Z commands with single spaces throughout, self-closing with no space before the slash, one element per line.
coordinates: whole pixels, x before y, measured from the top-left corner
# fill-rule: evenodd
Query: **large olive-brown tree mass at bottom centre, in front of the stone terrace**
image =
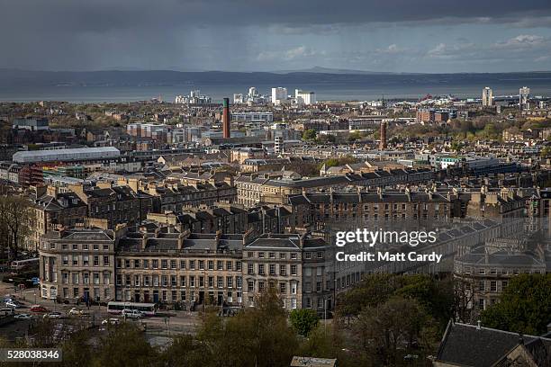
<path fill-rule="evenodd" d="M 197 336 L 181 336 L 161 360 L 176 366 L 287 366 L 298 346 L 282 301 L 270 288 L 257 297 L 254 308 L 233 318 L 205 313 Z"/>

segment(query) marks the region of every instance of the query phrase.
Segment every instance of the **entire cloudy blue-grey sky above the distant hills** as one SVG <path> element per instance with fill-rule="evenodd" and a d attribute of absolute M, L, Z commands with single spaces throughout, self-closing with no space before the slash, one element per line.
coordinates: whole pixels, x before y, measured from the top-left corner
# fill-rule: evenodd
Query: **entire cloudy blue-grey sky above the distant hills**
<path fill-rule="evenodd" d="M 551 70 L 551 0 L 0 0 L 0 67 Z"/>

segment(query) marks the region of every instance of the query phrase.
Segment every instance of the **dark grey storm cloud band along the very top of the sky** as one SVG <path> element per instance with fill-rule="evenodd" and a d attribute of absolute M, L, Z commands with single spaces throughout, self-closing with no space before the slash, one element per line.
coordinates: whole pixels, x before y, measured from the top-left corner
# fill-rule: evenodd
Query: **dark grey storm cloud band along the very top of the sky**
<path fill-rule="evenodd" d="M 519 22 L 551 16 L 548 0 L 3 0 L 0 19 L 43 31 L 365 22 Z M 548 20 L 546 24 L 549 24 Z"/>

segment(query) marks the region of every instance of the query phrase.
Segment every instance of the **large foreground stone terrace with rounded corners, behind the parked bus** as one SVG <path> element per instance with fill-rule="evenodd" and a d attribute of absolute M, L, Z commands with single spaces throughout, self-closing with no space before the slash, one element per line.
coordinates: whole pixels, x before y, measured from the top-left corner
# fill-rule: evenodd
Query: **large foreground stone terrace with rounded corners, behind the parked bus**
<path fill-rule="evenodd" d="M 285 308 L 331 307 L 330 246 L 299 235 L 178 233 L 142 226 L 59 228 L 42 238 L 41 297 L 59 300 L 254 305 L 274 286 Z"/>

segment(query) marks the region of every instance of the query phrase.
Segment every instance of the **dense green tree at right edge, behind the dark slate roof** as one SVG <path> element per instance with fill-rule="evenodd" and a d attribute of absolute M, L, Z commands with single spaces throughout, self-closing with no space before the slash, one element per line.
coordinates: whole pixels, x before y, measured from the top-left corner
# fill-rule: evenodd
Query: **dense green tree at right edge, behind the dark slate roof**
<path fill-rule="evenodd" d="M 539 335 L 551 320 L 551 273 L 521 274 L 512 278 L 500 301 L 485 309 L 485 327 Z"/>

